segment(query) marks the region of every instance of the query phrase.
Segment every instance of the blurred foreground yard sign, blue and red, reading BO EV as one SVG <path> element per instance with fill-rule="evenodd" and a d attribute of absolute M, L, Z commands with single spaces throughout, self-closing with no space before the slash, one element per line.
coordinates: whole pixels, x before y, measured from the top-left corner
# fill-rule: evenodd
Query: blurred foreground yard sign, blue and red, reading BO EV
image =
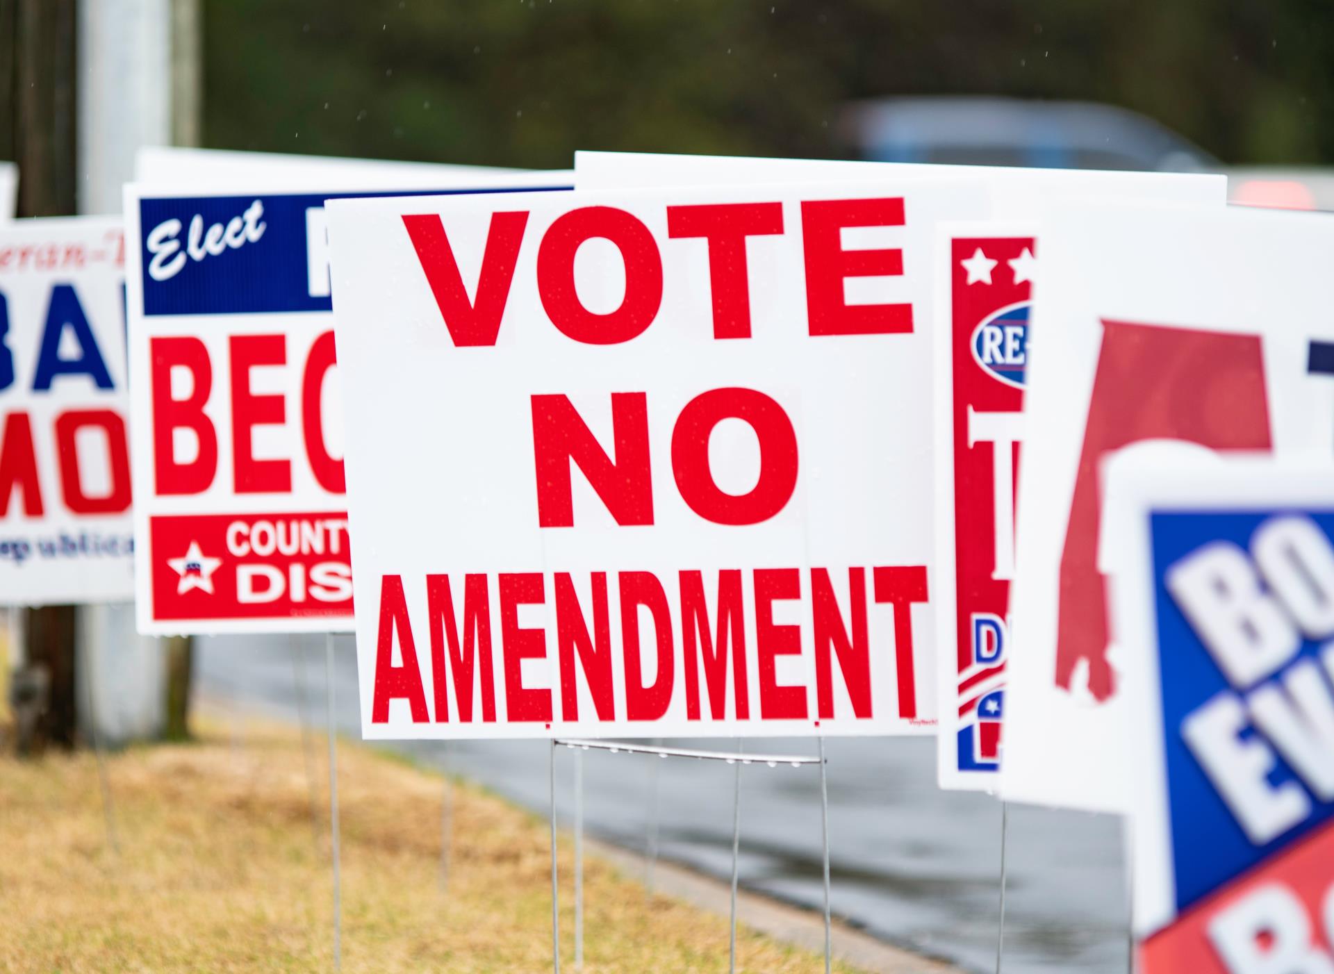
<path fill-rule="evenodd" d="M 1118 471 L 1143 974 L 1334 971 L 1334 472 Z"/>

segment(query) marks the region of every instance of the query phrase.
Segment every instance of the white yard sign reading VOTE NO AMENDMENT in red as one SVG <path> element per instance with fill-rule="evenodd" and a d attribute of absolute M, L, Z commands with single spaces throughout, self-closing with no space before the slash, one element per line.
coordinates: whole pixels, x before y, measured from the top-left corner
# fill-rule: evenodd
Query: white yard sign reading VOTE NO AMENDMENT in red
<path fill-rule="evenodd" d="M 979 187 L 329 204 L 367 738 L 931 733 Z"/>

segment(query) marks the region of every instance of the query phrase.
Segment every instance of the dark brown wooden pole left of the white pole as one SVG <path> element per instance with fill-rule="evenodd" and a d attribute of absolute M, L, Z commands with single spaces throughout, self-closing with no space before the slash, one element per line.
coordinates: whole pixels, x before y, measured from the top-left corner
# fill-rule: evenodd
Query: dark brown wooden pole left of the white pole
<path fill-rule="evenodd" d="M 75 212 L 76 0 L 0 0 L 0 156 L 19 164 L 19 216 Z M 15 699 L 37 710 L 35 749 L 73 746 L 75 607 L 27 611 Z"/>

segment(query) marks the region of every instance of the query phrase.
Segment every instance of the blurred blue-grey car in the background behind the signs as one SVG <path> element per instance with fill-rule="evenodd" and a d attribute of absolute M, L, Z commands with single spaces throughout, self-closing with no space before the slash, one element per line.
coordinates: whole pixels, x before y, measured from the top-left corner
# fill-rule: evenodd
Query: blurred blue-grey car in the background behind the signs
<path fill-rule="evenodd" d="M 856 155 L 876 161 L 1222 172 L 1233 203 L 1334 209 L 1334 171 L 1225 167 L 1147 116 L 1093 101 L 887 97 L 850 104 L 840 125 Z"/>

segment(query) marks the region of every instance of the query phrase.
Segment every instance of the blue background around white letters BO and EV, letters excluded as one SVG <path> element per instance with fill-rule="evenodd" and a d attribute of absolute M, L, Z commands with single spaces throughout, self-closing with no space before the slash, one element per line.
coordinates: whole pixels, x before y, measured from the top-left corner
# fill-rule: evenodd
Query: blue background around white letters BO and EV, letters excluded
<path fill-rule="evenodd" d="M 1250 687 L 1234 687 L 1218 662 L 1209 652 L 1199 634 L 1182 612 L 1167 588 L 1169 570 L 1194 552 L 1218 542 L 1231 542 L 1243 552 L 1250 551 L 1251 538 L 1265 522 L 1287 511 L 1158 511 L 1151 515 L 1154 603 L 1158 624 L 1158 663 L 1162 682 L 1163 743 L 1167 770 L 1167 799 L 1171 823 L 1171 855 L 1177 887 L 1177 909 L 1185 910 L 1219 886 L 1257 866 L 1278 850 L 1291 846 L 1334 817 L 1334 802 L 1322 801 L 1297 770 L 1283 758 L 1281 749 L 1255 726 L 1251 708 L 1257 687 L 1282 686 L 1285 674 L 1302 660 L 1319 663 L 1327 639 L 1302 639 L 1295 655 L 1270 676 Z M 1303 512 L 1327 538 L 1334 538 L 1334 512 Z M 1323 674 L 1325 692 L 1334 700 L 1330 674 Z M 1293 795 L 1299 790 L 1306 811 L 1290 827 L 1263 845 L 1257 845 L 1242 829 L 1219 787 L 1206 774 L 1201 759 L 1183 735 L 1187 718 L 1199 715 L 1206 706 L 1217 706 L 1231 696 L 1242 708 L 1242 726 L 1227 731 L 1227 747 L 1234 745 L 1263 749 L 1273 766 L 1251 770 L 1242 786 L 1255 802 L 1274 801 L 1279 790 Z M 1233 762 L 1234 766 L 1249 762 Z M 1253 767 L 1253 766 L 1251 766 Z M 1295 795 L 1293 795 L 1295 797 Z"/>

